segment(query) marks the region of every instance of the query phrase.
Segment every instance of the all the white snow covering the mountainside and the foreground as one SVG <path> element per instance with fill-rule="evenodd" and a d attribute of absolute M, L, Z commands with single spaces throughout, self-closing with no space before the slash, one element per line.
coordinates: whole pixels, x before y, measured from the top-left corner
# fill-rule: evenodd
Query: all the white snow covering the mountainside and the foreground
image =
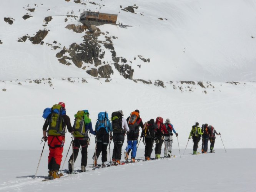
<path fill-rule="evenodd" d="M 65 0 L 1 1 L 0 191 L 255 191 L 256 44 L 251 36 L 256 36 L 256 1 L 95 0 L 98 5 L 81 2 L 86 5 Z M 120 8 L 134 4 L 138 6 L 136 14 Z M 27 8 L 35 8 L 35 12 Z M 113 66 L 114 74 L 110 82 L 105 82 L 104 78 L 91 78 L 73 64 L 65 66 L 58 62 L 55 55 L 60 50 L 51 50 L 46 43 L 56 40 L 61 47 L 68 47 L 83 41 L 84 33 L 65 28 L 79 22 L 74 18 L 64 21 L 68 11 L 79 16 L 79 9 L 116 13 L 118 22 L 132 26 L 99 28 L 108 31 L 107 36 L 118 37 L 112 39 L 116 54 L 133 62 L 133 78 L 150 79 L 153 84 L 123 79 Z M 33 17 L 23 20 L 26 13 Z M 45 27 L 50 31 L 43 45 L 17 41 L 23 35 L 33 36 L 42 30 L 43 19 L 50 15 L 53 20 Z M 15 21 L 9 25 L 3 17 Z M 150 58 L 150 63 L 142 62 L 138 55 Z M 111 63 L 111 56 L 106 54 L 105 61 Z M 35 83 L 35 79 L 41 83 Z M 155 86 L 156 79 L 162 80 L 165 88 Z M 202 81 L 204 87 L 197 81 Z M 169 118 L 179 134 L 178 138 L 173 137 L 176 157 L 95 171 L 88 168 L 88 172 L 75 177 L 41 182 L 48 175 L 45 146 L 38 177 L 32 179 L 43 146 L 43 109 L 60 101 L 66 103 L 71 123 L 74 114 L 83 109 L 89 110 L 93 126 L 97 114 L 105 110 L 110 115 L 122 109 L 127 117 L 139 109 L 143 122 L 157 116 Z M 215 153 L 189 154 L 193 142 L 188 142 L 188 136 L 195 122 L 200 126 L 208 123 L 221 132 L 223 142 L 216 136 Z M 70 137 L 66 133 L 62 164 Z M 113 143 L 110 147 L 112 154 Z M 125 147 L 126 142 L 122 154 Z M 87 166 L 93 161 L 94 148 L 95 139 L 91 136 Z M 71 152 L 67 158 L 70 155 Z M 144 157 L 142 141 L 136 157 Z M 78 154 L 76 169 L 80 168 L 80 161 Z M 64 169 L 67 167 L 66 161 Z"/>

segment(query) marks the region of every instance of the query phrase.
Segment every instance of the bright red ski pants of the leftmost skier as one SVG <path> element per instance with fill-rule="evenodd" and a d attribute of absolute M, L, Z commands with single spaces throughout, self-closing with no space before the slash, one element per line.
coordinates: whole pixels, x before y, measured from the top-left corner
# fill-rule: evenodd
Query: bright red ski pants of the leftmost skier
<path fill-rule="evenodd" d="M 48 169 L 59 170 L 62 162 L 62 152 L 65 136 L 48 136 L 49 156 Z"/>

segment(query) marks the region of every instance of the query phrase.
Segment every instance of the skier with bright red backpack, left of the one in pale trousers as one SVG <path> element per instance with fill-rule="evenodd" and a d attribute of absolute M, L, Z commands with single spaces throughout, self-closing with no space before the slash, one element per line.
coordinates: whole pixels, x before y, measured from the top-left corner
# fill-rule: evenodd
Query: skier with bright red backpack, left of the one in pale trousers
<path fill-rule="evenodd" d="M 164 142 L 164 136 L 163 134 L 167 132 L 165 125 L 163 124 L 163 118 L 157 117 L 156 118 L 156 125 L 158 128 L 155 132 L 155 142 L 156 142 L 156 148 L 155 148 L 155 155 L 156 159 L 160 159 L 161 155 L 161 148 Z"/>

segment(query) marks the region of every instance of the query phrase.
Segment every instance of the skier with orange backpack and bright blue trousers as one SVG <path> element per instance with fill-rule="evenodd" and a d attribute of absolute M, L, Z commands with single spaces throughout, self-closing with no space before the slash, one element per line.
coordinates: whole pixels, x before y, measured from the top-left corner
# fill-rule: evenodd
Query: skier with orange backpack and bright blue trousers
<path fill-rule="evenodd" d="M 142 130 L 145 129 L 142 119 L 140 118 L 140 111 L 136 109 L 131 115 L 126 119 L 128 122 L 128 127 L 130 129 L 129 134 L 127 134 L 127 147 L 125 149 L 125 160 L 128 160 L 129 153 L 131 151 L 131 162 L 135 162 L 137 143 L 139 137 L 140 127 Z M 145 125 L 146 126 L 146 125 Z"/>

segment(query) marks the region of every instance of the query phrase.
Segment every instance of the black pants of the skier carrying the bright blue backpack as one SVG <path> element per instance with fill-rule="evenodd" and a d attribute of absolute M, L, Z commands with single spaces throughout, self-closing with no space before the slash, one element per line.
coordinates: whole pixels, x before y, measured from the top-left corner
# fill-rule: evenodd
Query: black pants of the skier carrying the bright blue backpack
<path fill-rule="evenodd" d="M 105 162 L 108 161 L 107 159 L 107 155 L 108 155 L 108 143 L 109 143 L 109 134 L 101 134 L 99 136 L 97 136 L 97 146 L 96 146 L 96 156 L 97 159 L 101 154 L 101 161 Z"/>

